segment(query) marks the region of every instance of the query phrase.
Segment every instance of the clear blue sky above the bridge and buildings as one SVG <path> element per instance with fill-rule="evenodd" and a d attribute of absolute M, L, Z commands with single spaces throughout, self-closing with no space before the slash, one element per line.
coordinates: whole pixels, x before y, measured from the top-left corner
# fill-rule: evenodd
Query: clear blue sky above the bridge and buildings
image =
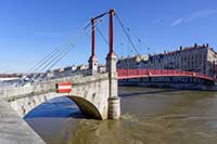
<path fill-rule="evenodd" d="M 26 71 L 55 47 L 67 42 L 90 17 L 111 8 L 129 27 L 143 54 L 195 42 L 209 43 L 216 50 L 216 5 L 215 0 L 1 0 L 0 73 Z M 116 19 L 114 25 L 118 56 L 135 54 L 128 51 L 132 48 Z M 99 28 L 107 36 L 107 19 Z M 99 61 L 104 63 L 108 48 L 99 35 L 95 49 Z M 89 55 L 90 35 L 55 67 L 87 63 Z"/>

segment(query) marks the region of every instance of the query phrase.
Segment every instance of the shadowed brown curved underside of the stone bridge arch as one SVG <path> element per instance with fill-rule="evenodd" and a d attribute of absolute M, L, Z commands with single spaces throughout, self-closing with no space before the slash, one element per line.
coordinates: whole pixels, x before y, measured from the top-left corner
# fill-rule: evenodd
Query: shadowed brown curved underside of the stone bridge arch
<path fill-rule="evenodd" d="M 103 119 L 98 107 L 95 107 L 95 105 L 89 102 L 88 100 L 75 95 L 68 95 L 67 97 L 74 101 L 81 110 L 81 113 L 88 118 Z"/>

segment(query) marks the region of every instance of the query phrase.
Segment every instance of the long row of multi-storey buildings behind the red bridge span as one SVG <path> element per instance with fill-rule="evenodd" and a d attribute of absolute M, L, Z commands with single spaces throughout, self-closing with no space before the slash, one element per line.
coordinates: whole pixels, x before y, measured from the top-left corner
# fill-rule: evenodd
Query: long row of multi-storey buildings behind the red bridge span
<path fill-rule="evenodd" d="M 149 55 L 148 60 L 138 61 L 136 57 L 120 60 L 117 68 L 177 69 L 202 73 L 216 78 L 217 53 L 207 43 L 195 43 L 190 48 L 180 47 L 176 51 Z"/>

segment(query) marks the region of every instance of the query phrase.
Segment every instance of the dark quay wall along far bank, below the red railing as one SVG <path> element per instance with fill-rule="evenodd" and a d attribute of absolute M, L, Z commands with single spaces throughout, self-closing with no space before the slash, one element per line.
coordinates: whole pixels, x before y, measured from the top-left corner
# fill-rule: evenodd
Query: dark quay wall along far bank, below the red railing
<path fill-rule="evenodd" d="M 132 78 L 118 80 L 119 87 L 146 87 L 146 88 L 173 88 L 181 90 L 217 90 L 217 87 L 202 79 L 195 78 Z"/>

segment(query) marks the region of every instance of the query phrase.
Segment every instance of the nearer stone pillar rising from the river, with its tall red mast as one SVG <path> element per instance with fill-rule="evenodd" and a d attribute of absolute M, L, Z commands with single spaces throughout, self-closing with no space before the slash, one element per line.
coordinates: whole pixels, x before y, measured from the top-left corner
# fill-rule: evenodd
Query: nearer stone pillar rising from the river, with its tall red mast
<path fill-rule="evenodd" d="M 113 15 L 114 10 L 110 10 L 110 53 L 106 57 L 106 71 L 110 77 L 110 97 L 108 97 L 108 118 L 119 119 L 120 118 L 120 99 L 117 93 L 117 56 L 113 51 Z"/>

